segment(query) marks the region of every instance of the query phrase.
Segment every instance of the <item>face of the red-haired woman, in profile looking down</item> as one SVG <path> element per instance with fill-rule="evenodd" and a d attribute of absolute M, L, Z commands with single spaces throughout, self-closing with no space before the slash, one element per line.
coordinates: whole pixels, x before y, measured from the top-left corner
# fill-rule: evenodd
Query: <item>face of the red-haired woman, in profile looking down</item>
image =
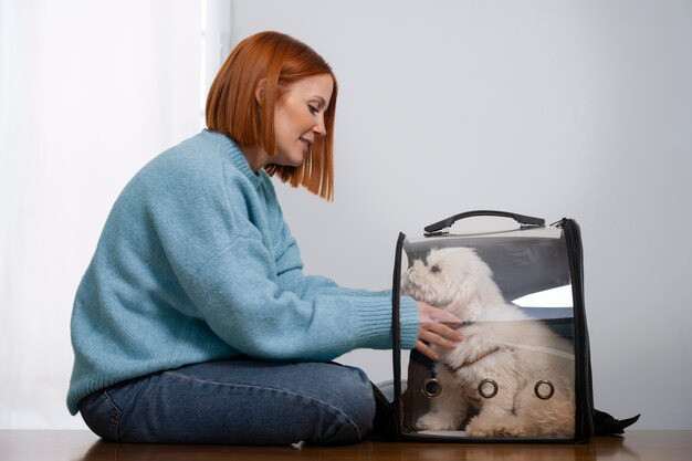
<path fill-rule="evenodd" d="M 314 75 L 295 82 L 274 109 L 276 154 L 272 164 L 298 167 L 324 126 L 334 81 L 329 74 Z"/>

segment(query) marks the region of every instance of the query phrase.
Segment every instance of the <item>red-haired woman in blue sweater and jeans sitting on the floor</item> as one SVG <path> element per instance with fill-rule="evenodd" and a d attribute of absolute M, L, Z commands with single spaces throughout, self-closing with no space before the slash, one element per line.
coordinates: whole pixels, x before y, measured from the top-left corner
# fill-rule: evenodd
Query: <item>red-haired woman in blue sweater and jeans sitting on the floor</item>
<path fill-rule="evenodd" d="M 346 443 L 373 426 L 365 374 L 328 360 L 391 344 L 390 293 L 307 276 L 270 180 L 331 199 L 337 85 L 275 32 L 241 42 L 209 129 L 125 187 L 78 286 L 67 406 L 124 442 Z M 434 358 L 458 321 L 401 300 L 402 347 Z"/>

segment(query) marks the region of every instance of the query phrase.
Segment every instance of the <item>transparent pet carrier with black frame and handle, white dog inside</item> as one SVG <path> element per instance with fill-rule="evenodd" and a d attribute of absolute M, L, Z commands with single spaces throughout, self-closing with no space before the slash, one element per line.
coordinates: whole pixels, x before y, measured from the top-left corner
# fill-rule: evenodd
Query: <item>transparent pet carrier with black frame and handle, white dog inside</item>
<path fill-rule="evenodd" d="M 475 217 L 500 230 L 458 231 L 462 222 L 454 223 Z M 401 233 L 388 389 L 396 436 L 588 440 L 593 397 L 581 273 L 579 228 L 569 219 L 545 226 L 515 213 L 472 211 L 428 226 L 418 239 Z M 448 326 L 463 339 L 453 350 L 436 348 L 436 362 L 400 350 L 398 294 L 455 314 L 462 323 Z"/>

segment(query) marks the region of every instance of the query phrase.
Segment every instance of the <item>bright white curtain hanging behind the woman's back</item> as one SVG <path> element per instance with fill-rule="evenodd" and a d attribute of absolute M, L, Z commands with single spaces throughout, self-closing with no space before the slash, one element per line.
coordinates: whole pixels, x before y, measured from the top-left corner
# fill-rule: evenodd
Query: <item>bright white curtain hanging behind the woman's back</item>
<path fill-rule="evenodd" d="M 0 0 L 0 429 L 84 427 L 74 292 L 129 177 L 201 127 L 202 10 Z"/>

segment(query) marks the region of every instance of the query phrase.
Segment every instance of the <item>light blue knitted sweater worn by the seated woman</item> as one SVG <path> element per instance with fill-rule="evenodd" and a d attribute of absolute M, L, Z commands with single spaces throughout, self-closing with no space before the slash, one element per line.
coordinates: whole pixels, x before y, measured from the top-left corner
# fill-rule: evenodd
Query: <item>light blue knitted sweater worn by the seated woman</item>
<path fill-rule="evenodd" d="M 159 155 L 118 197 L 78 286 L 70 412 L 98 389 L 188 364 L 391 347 L 391 292 L 302 268 L 270 178 L 231 139 L 203 130 Z M 403 348 L 417 332 L 405 296 Z"/>

